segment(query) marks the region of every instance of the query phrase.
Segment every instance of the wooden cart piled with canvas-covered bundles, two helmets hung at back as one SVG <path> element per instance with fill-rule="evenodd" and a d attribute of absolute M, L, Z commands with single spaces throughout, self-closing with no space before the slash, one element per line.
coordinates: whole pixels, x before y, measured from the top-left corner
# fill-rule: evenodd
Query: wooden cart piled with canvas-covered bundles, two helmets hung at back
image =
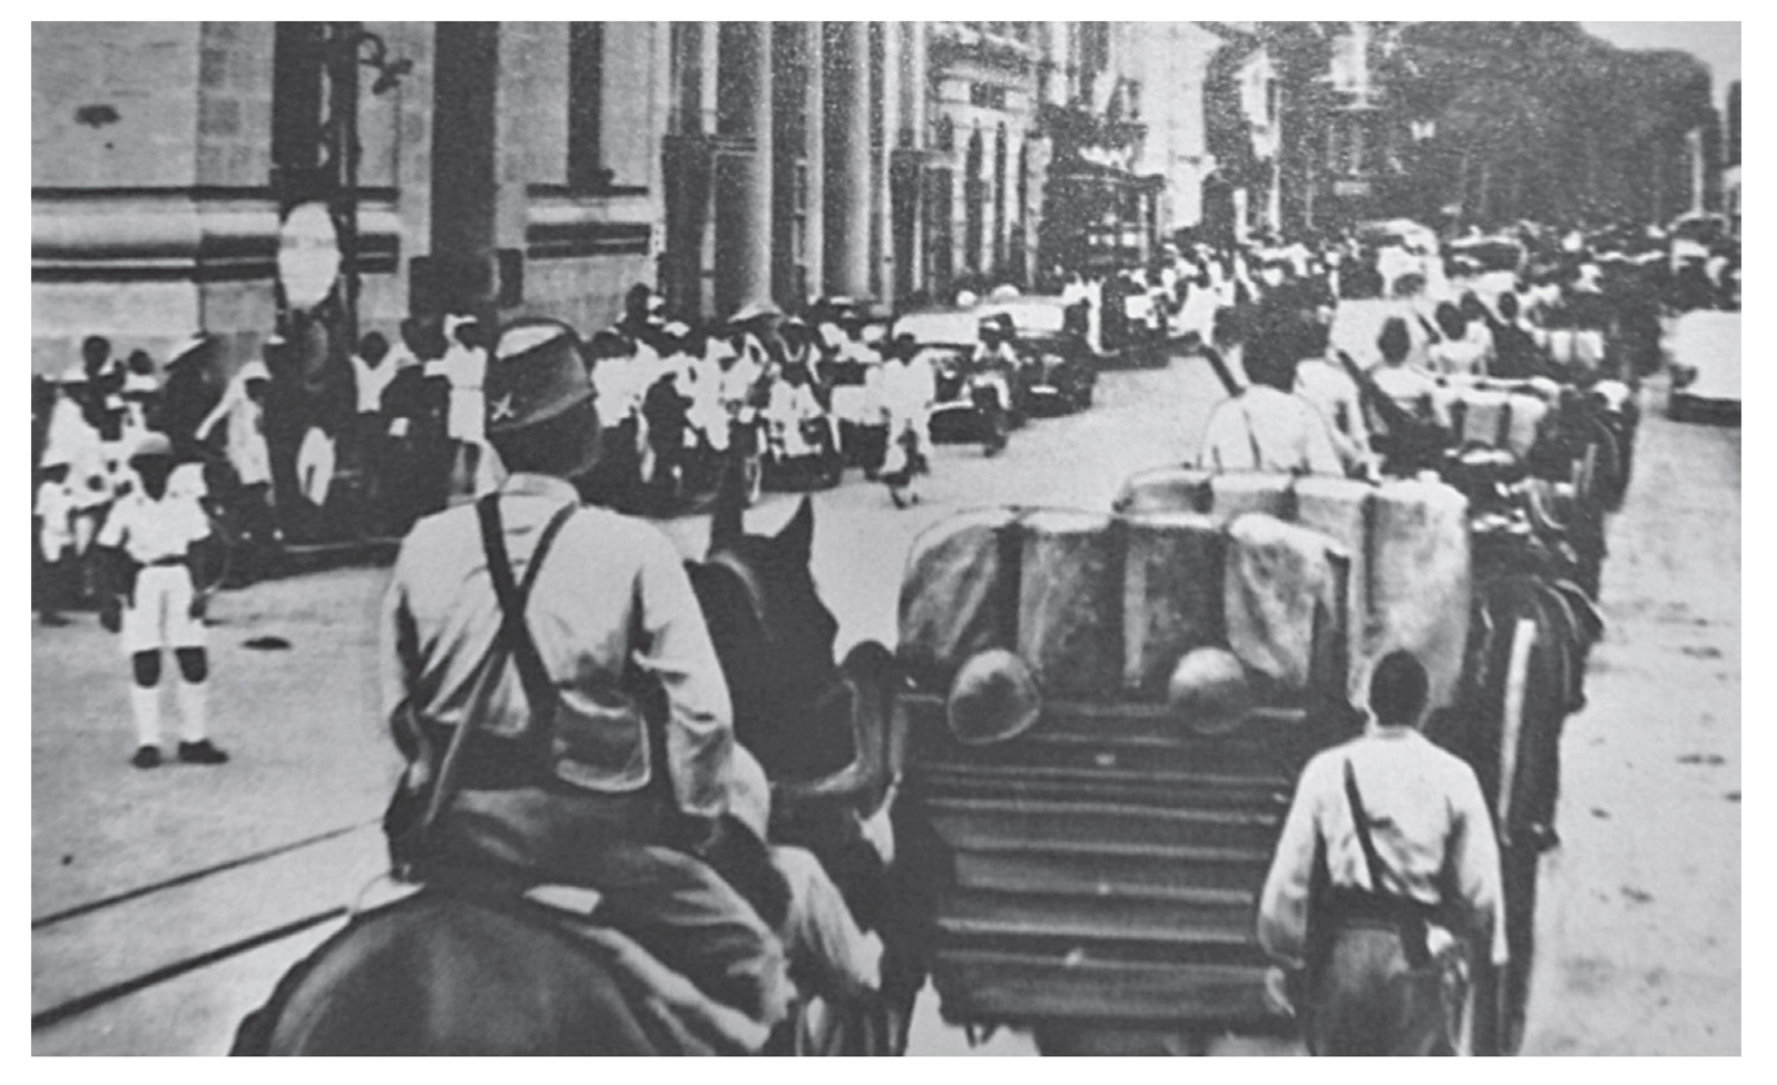
<path fill-rule="evenodd" d="M 1262 504 L 1265 490 L 1249 497 Z M 1338 684 L 1349 558 L 1265 511 L 984 510 L 915 542 L 901 591 L 904 817 L 951 1021 L 1263 1019 L 1255 907 Z M 1253 701 L 1203 726 L 1180 659 L 1233 648 Z M 951 730 L 951 678 L 984 648 L 1034 677 L 1032 725 Z M 1308 689 L 1304 689 L 1308 687 Z"/>

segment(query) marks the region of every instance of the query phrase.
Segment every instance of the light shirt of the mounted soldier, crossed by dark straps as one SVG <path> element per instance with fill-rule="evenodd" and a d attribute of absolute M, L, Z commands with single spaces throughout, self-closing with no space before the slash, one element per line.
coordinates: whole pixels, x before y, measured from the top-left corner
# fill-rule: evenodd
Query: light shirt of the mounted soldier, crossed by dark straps
<path fill-rule="evenodd" d="M 514 579 L 522 581 L 549 519 L 579 495 L 563 479 L 512 474 L 499 488 L 499 515 Z M 421 520 L 394 563 L 384 600 L 382 691 L 387 719 L 409 709 L 418 721 L 462 726 L 473 691 L 499 632 L 501 611 L 487 574 L 474 506 Z M 535 591 L 526 623 L 567 707 L 592 707 L 620 689 L 634 662 L 665 689 L 668 772 L 682 812 L 714 817 L 727 810 L 732 709 L 721 664 L 704 627 L 679 552 L 659 529 L 601 508 L 581 508 L 562 527 Z M 633 634 L 640 630 L 640 643 Z M 530 707 L 517 668 L 506 666 L 478 726 L 517 733 Z M 647 764 L 647 735 L 636 733 Z M 641 781 L 606 781 L 633 787 Z"/>

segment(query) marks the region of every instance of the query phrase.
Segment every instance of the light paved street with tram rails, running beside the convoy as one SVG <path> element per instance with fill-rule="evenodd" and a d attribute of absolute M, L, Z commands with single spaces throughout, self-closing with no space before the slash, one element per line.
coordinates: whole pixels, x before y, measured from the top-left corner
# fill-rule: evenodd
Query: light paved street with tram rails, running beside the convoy
<path fill-rule="evenodd" d="M 1098 405 L 984 460 L 940 449 L 922 504 L 855 476 L 816 497 L 816 577 L 841 648 L 894 639 L 912 538 L 977 504 L 1105 508 L 1132 471 L 1196 449 L 1221 394 L 1198 359 L 1112 373 Z M 755 529 L 794 508 L 768 497 Z M 702 519 L 666 526 L 700 554 Z M 1564 739 L 1562 847 L 1544 863 L 1526 1053 L 1740 1049 L 1740 432 L 1649 405 L 1605 566 L 1606 641 Z M 394 772 L 375 719 L 379 568 L 259 584 L 213 607 L 213 732 L 235 762 L 139 772 L 126 666 L 91 616 L 32 630 L 32 915 L 316 835 L 327 840 L 34 929 L 32 1007 L 352 900 L 379 867 Z M 281 638 L 286 648 L 254 648 Z M 169 716 L 169 723 L 171 717 Z M 334 923 L 34 1032 L 37 1053 L 220 1053 Z M 1253 1044 L 1230 1041 L 1230 1051 Z M 913 1053 L 965 1053 L 920 1000 Z M 1000 1034 L 983 1053 L 1029 1053 Z"/>

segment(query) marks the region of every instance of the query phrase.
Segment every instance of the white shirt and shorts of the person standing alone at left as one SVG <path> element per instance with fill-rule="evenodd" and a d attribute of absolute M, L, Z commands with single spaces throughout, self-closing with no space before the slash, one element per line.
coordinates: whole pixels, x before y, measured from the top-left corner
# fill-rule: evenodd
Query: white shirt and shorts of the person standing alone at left
<path fill-rule="evenodd" d="M 195 499 L 167 494 L 155 501 L 140 487 L 112 506 L 98 545 L 121 549 L 142 568 L 123 609 L 124 655 L 158 648 L 203 648 L 203 618 L 192 616 L 187 549 L 210 536 L 210 519 Z"/>

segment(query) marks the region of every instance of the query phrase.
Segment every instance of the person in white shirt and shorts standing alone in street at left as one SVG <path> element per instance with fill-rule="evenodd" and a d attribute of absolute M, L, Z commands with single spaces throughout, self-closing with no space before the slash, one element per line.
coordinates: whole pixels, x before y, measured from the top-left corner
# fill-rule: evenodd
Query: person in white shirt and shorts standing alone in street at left
<path fill-rule="evenodd" d="M 149 433 L 130 456 L 137 485 L 117 499 L 96 545 L 112 568 L 114 595 L 101 611 L 107 629 L 123 636 L 135 684 L 137 769 L 160 765 L 160 662 L 172 648 L 179 664 L 179 760 L 219 765 L 227 755 L 206 733 L 210 657 L 204 650 L 206 598 L 192 584 L 188 556 L 210 538 L 210 519 L 188 497 L 167 492 L 172 442 Z"/>

